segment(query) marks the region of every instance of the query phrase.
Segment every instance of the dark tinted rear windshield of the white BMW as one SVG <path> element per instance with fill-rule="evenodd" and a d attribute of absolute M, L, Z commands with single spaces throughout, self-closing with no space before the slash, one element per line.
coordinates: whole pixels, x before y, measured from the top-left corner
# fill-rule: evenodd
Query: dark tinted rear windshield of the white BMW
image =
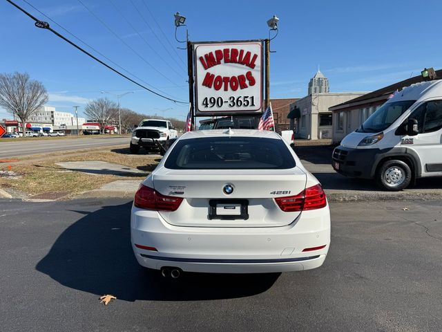
<path fill-rule="evenodd" d="M 178 141 L 164 166 L 169 169 L 289 169 L 296 163 L 282 140 L 216 137 Z"/>

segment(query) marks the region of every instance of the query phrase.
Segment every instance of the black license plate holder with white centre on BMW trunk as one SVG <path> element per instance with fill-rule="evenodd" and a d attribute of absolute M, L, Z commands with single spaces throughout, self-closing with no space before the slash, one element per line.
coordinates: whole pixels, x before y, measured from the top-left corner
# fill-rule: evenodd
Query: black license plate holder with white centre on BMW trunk
<path fill-rule="evenodd" d="M 209 201 L 209 220 L 249 219 L 249 200 L 247 199 L 211 199 Z"/>

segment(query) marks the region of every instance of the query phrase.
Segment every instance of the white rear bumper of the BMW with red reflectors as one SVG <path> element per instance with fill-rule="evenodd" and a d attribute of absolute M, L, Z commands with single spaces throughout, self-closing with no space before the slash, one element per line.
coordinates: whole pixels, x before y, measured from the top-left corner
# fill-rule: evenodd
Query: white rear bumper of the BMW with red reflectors
<path fill-rule="evenodd" d="M 133 208 L 131 240 L 138 263 L 157 270 L 164 266 L 201 273 L 309 270 L 321 266 L 329 250 L 329 208 L 302 212 L 291 225 L 274 228 L 174 226 L 155 211 Z"/>

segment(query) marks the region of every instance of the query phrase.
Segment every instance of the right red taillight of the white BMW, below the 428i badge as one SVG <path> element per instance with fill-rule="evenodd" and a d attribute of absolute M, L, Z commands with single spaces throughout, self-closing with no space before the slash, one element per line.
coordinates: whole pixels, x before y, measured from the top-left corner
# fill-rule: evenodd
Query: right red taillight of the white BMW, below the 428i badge
<path fill-rule="evenodd" d="M 278 197 L 275 201 L 284 212 L 316 210 L 327 205 L 325 192 L 319 183 L 306 188 L 297 195 Z"/>

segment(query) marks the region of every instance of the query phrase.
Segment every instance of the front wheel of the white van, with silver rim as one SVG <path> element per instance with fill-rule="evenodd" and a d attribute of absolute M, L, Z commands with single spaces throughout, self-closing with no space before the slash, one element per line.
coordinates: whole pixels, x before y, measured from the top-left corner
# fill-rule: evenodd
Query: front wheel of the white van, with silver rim
<path fill-rule="evenodd" d="M 412 181 L 412 170 L 402 160 L 387 160 L 376 174 L 376 182 L 391 192 L 405 189 Z"/>

